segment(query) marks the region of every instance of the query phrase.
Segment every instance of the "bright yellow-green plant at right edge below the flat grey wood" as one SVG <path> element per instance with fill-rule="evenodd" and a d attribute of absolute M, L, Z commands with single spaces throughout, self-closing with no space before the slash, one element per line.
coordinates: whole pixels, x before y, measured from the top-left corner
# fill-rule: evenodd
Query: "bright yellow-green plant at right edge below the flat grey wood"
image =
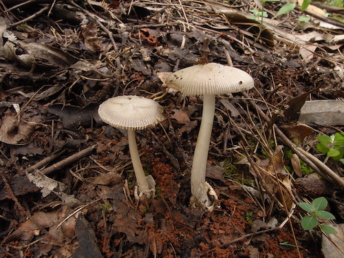
<path fill-rule="evenodd" d="M 344 133 L 335 133 L 332 136 L 318 136 L 319 144 L 316 145 L 316 149 L 326 154 L 326 158 L 323 161 L 327 162 L 329 158 L 339 160 L 344 163 Z"/>

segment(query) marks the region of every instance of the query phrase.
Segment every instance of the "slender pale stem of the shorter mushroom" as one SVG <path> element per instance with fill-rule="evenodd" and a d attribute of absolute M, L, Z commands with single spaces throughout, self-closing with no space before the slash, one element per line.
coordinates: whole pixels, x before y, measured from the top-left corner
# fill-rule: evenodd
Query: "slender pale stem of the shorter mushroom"
<path fill-rule="evenodd" d="M 140 155 L 138 155 L 138 145 L 136 144 L 135 130 L 128 130 L 128 141 L 129 141 L 129 151 L 131 155 L 131 162 L 133 162 L 133 170 L 135 171 L 136 181 L 138 182 L 138 187 L 140 191 L 144 194 L 149 195 L 149 186 L 144 175 L 142 168 Z"/>

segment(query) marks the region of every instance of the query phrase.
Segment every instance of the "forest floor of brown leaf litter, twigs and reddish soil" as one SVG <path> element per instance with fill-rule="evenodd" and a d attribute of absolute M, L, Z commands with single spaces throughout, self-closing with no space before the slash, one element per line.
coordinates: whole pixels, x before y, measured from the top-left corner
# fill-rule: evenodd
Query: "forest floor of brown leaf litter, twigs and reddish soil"
<path fill-rule="evenodd" d="M 343 255 L 343 238 L 336 247 L 319 228 L 326 219 L 303 230 L 309 214 L 298 203 L 325 197 L 339 234 L 343 162 L 324 164 L 316 137 L 343 133 L 344 109 L 334 107 L 344 99 L 344 11 L 275 17 L 282 6 L 1 1 L 0 257 Z M 253 17 L 262 11 L 263 25 Z M 206 39 L 208 61 L 255 80 L 216 98 L 206 171 L 215 208 L 189 202 L 202 96 L 179 92 L 156 99 L 163 122 L 137 131 L 156 183 L 153 200 L 138 201 L 127 133 L 100 120 L 98 107 L 113 96 L 161 96 L 166 75 L 200 61 Z M 305 101 L 312 116 L 301 118 Z"/>

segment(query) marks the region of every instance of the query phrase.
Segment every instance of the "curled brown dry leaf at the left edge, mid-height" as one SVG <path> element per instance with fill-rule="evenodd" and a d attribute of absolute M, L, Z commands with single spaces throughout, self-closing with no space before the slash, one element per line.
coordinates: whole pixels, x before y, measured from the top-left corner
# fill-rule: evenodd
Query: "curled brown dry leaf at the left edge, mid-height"
<path fill-rule="evenodd" d="M 0 127 L 0 141 L 7 144 L 24 145 L 30 142 L 34 126 L 19 122 L 14 116 L 5 116 Z"/>

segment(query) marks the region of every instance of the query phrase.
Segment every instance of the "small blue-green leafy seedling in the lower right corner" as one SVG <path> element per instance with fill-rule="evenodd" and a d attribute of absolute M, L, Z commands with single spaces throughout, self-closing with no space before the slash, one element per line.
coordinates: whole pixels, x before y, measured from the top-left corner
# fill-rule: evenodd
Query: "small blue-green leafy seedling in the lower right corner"
<path fill-rule="evenodd" d="M 320 226 L 321 230 L 327 234 L 336 234 L 336 230 L 329 225 L 319 224 L 318 217 L 322 219 L 335 219 L 332 213 L 323 211 L 327 206 L 327 200 L 325 197 L 319 197 L 313 200 L 312 204 L 307 202 L 299 202 L 299 206 L 308 213 L 312 213 L 310 216 L 305 216 L 301 219 L 301 226 L 303 230 L 310 230 L 316 226 Z"/>

